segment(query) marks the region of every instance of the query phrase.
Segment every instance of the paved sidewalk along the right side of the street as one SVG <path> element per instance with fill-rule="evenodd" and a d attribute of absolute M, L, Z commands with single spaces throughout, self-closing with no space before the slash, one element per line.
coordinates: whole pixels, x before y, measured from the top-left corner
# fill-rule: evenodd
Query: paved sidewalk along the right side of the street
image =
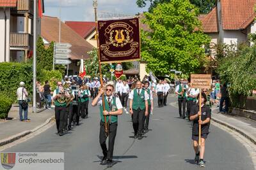
<path fill-rule="evenodd" d="M 170 103 L 178 108 L 178 102 Z M 244 117 L 218 113 L 219 108 L 212 108 L 212 121 L 225 125 L 233 131 L 239 132 L 245 138 L 249 139 L 256 145 L 256 121 Z"/>

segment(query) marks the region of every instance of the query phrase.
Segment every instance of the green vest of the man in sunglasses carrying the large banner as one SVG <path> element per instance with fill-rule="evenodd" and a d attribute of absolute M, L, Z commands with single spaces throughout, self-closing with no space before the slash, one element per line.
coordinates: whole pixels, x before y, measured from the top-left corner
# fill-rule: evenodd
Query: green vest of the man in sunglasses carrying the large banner
<path fill-rule="evenodd" d="M 107 97 L 104 96 L 104 101 L 105 101 L 105 110 L 106 111 L 116 111 L 116 97 L 113 97 L 113 100 L 111 101 L 112 103 L 112 110 L 110 110 L 109 105 L 108 105 L 108 100 Z M 111 117 L 111 124 L 117 122 L 117 115 L 111 115 L 111 116 L 107 116 L 107 122 L 109 122 L 109 117 Z M 105 122 L 105 118 L 103 115 L 103 107 L 102 105 L 100 105 L 100 118 L 102 122 Z"/>

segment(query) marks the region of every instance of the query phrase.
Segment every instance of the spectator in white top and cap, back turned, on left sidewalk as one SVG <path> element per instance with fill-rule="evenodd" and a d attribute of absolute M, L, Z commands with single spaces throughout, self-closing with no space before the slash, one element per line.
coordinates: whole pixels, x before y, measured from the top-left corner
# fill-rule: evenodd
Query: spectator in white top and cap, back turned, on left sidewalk
<path fill-rule="evenodd" d="M 20 121 L 29 122 L 28 120 L 28 92 L 25 88 L 25 83 L 20 81 L 20 87 L 17 89 L 17 99 L 19 102 Z M 22 112 L 24 111 L 24 118 Z"/>

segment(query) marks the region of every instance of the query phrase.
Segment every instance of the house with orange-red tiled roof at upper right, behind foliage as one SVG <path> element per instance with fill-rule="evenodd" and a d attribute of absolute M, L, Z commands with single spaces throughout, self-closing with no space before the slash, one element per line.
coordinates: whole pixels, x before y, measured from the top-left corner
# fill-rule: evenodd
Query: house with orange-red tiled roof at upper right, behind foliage
<path fill-rule="evenodd" d="M 239 44 L 256 32 L 256 0 L 218 0 L 207 15 L 200 15 L 205 34 L 211 36 L 211 43 Z"/>

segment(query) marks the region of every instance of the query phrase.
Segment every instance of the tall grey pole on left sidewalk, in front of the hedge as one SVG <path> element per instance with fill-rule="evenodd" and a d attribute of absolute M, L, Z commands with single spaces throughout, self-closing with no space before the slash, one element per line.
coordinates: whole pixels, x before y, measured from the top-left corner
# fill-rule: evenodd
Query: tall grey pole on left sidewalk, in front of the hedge
<path fill-rule="evenodd" d="M 36 113 L 36 0 L 34 0 L 33 18 L 33 113 Z"/>

